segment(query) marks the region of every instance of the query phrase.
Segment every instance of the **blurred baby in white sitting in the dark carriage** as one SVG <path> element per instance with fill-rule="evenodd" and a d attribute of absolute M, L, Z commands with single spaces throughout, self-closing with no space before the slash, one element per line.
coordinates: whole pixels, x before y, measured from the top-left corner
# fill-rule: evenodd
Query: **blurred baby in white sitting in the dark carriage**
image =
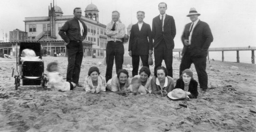
<path fill-rule="evenodd" d="M 42 61 L 39 56 L 36 56 L 36 53 L 32 49 L 23 49 L 21 52 L 20 61 Z"/>

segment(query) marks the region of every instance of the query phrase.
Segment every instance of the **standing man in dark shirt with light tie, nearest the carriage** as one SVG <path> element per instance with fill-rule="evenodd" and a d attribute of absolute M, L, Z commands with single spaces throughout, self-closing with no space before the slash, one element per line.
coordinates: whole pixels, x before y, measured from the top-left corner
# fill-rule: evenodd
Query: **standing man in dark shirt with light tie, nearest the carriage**
<path fill-rule="evenodd" d="M 78 87 L 81 64 L 83 60 L 82 41 L 87 35 L 87 27 L 80 20 L 81 8 L 73 10 L 74 18 L 65 22 L 59 31 L 59 35 L 65 41 L 68 52 L 67 81 L 74 82 Z"/>

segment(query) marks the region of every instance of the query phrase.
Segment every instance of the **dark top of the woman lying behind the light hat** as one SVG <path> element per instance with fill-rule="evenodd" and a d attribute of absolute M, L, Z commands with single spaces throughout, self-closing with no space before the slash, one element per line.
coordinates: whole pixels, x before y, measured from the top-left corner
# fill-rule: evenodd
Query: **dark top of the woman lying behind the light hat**
<path fill-rule="evenodd" d="M 189 86 L 188 86 L 188 92 L 191 93 L 191 95 L 189 95 L 190 99 L 196 99 L 197 98 L 197 96 L 198 96 L 197 85 L 198 85 L 198 83 L 194 79 L 191 79 L 191 81 L 189 83 Z M 175 89 L 184 90 L 184 87 L 185 87 L 185 84 L 184 84 L 183 80 L 178 79 L 176 81 Z"/>

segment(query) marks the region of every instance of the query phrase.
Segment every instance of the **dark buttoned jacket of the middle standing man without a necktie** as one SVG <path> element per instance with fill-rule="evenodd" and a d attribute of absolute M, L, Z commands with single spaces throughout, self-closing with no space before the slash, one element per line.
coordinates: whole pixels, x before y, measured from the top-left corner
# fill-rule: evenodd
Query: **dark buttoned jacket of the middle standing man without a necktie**
<path fill-rule="evenodd" d="M 134 24 L 131 29 L 128 51 L 132 50 L 132 55 L 148 55 L 148 50 L 153 50 L 152 44 L 149 24 L 143 22 L 140 30 L 138 24 Z"/>

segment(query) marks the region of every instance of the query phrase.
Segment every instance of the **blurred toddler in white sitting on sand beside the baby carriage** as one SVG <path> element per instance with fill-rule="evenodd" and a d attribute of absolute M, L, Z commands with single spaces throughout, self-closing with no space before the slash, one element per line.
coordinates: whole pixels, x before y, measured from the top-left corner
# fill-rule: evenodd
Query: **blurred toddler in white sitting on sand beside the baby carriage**
<path fill-rule="evenodd" d="M 50 62 L 47 65 L 46 70 L 48 73 L 49 81 L 47 82 L 47 88 L 50 88 L 51 91 L 69 91 L 73 90 L 76 87 L 76 84 L 73 82 L 66 82 L 63 77 L 60 75 L 58 63 Z"/>

